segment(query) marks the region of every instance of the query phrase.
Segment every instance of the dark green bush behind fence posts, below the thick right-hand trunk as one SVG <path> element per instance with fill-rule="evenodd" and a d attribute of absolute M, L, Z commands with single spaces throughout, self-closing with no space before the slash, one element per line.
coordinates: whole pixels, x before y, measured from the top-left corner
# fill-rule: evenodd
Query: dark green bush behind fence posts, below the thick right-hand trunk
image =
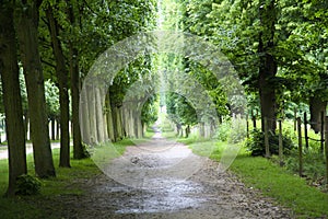
<path fill-rule="evenodd" d="M 290 137 L 282 137 L 283 152 L 288 154 L 291 149 L 295 148 Z M 265 134 L 259 129 L 250 131 L 249 138 L 246 140 L 246 148 L 251 152 L 251 155 L 265 155 Z M 279 154 L 279 135 L 269 132 L 269 149 L 271 154 Z"/>

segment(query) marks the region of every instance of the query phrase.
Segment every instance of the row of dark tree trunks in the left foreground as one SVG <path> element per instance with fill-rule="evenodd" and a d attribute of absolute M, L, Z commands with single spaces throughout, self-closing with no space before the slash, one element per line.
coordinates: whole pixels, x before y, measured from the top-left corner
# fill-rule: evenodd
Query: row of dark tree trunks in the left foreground
<path fill-rule="evenodd" d="M 38 50 L 38 21 L 42 2 L 42 0 L 4 0 L 0 5 L 0 72 L 9 146 L 9 188 L 7 193 L 9 196 L 14 195 L 17 176 L 27 172 L 25 154 L 27 120 L 25 123 L 23 120 L 19 61 L 22 62 L 26 83 L 35 173 L 39 177 L 56 176 L 46 112 L 44 73 Z M 70 1 L 68 1 L 68 4 L 70 4 Z M 71 25 L 74 25 L 75 21 L 72 10 L 72 7 L 68 7 L 69 22 Z M 59 37 L 60 26 L 50 8 L 46 11 L 46 16 L 59 87 L 60 166 L 69 168 L 69 89 L 71 89 L 72 93 L 73 155 L 75 159 L 85 158 L 79 126 L 79 54 L 73 46 L 73 42 L 69 42 L 68 67 Z M 16 47 L 16 45 L 19 46 Z M 68 84 L 69 74 L 71 88 Z"/>

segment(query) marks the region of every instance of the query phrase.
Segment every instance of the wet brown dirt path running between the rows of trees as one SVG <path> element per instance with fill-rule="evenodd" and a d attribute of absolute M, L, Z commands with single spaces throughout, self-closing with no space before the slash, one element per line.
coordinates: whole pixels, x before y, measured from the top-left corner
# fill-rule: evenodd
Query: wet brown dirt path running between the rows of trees
<path fill-rule="evenodd" d="M 159 134 L 128 147 L 104 172 L 72 185 L 82 188 L 82 195 L 43 200 L 48 217 L 293 218 L 291 210 L 220 171 L 218 162 L 195 155 L 188 147 Z"/>

